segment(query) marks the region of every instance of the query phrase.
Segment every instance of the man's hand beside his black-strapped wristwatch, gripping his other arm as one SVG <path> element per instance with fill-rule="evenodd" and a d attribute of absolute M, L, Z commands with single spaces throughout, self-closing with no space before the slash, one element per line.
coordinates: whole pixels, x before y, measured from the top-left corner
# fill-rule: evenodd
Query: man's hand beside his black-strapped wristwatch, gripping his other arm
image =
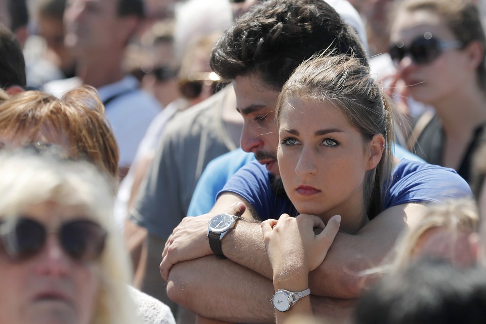
<path fill-rule="evenodd" d="M 235 203 L 225 212 L 241 215 L 245 204 Z M 160 275 L 167 281 L 172 266 L 178 262 L 193 260 L 213 254 L 208 242 L 208 222 L 216 214 L 209 213 L 197 217 L 185 217 L 172 231 L 162 252 Z"/>

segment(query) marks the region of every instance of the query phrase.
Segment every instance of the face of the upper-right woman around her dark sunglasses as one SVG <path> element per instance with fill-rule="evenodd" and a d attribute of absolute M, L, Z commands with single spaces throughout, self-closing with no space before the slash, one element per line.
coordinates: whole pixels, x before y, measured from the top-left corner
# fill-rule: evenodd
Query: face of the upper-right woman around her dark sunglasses
<path fill-rule="evenodd" d="M 424 38 L 425 34 L 440 41 L 457 41 L 439 15 L 428 10 L 417 10 L 398 14 L 391 28 L 390 44 L 403 42 L 404 47 L 408 48 L 415 39 Z M 410 55 L 406 55 L 398 62 L 397 69 L 408 93 L 415 100 L 440 105 L 469 82 L 469 66 L 467 53 L 456 48 L 444 50 L 432 62 L 423 64 L 417 64 Z"/>

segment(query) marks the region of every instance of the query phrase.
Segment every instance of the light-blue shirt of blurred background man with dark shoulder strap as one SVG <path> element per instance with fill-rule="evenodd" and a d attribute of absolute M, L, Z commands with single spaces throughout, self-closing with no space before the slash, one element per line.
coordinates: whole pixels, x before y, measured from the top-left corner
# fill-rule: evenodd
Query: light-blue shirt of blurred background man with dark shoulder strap
<path fill-rule="evenodd" d="M 44 86 L 44 91 L 61 97 L 65 92 L 82 85 L 78 77 L 56 80 Z M 105 114 L 118 143 L 119 166 L 132 165 L 137 147 L 151 121 L 161 111 L 158 101 L 139 89 L 138 80 L 127 75 L 118 82 L 98 88 L 101 101 L 119 94 L 105 106 Z"/>

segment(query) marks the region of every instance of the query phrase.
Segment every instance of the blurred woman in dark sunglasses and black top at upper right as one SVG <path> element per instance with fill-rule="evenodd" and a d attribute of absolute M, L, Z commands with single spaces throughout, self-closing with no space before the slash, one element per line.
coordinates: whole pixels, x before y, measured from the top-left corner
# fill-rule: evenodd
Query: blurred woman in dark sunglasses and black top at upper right
<path fill-rule="evenodd" d="M 470 182 L 470 161 L 486 125 L 486 41 L 478 9 L 465 0 L 404 0 L 389 54 L 413 99 L 429 104 L 409 148 Z"/>

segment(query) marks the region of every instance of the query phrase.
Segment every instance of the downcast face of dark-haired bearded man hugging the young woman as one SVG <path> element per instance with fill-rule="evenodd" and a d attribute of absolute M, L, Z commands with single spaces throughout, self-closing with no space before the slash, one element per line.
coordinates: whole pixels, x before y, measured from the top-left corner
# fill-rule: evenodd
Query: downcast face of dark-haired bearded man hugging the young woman
<path fill-rule="evenodd" d="M 236 109 L 244 120 L 241 148 L 245 152 L 253 152 L 268 171 L 278 176 L 275 104 L 279 92 L 265 85 L 256 74 L 237 76 L 233 86 Z"/>

